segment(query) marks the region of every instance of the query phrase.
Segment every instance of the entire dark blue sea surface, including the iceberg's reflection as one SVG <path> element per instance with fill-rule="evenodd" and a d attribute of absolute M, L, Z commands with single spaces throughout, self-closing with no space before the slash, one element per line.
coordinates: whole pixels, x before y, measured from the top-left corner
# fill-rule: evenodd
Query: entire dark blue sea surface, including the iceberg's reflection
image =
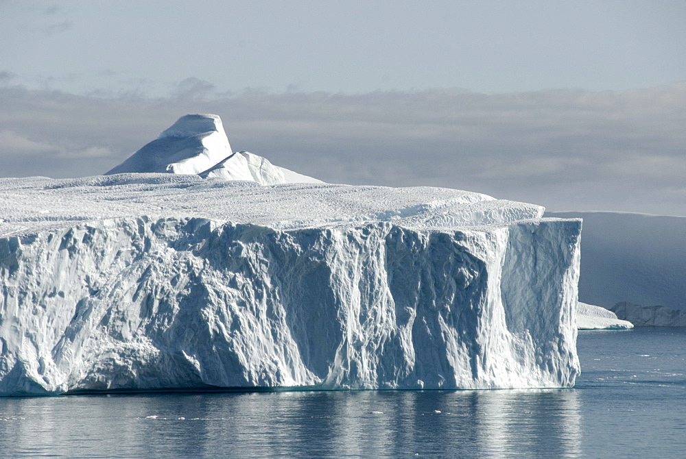
<path fill-rule="evenodd" d="M 580 332 L 565 390 L 0 399 L 0 457 L 683 458 L 686 329 Z"/>

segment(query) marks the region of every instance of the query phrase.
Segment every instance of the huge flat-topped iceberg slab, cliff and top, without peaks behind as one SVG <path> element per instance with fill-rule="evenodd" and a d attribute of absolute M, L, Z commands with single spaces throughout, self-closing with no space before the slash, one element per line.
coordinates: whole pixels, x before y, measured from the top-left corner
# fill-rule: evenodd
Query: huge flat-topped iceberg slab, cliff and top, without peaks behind
<path fill-rule="evenodd" d="M 572 386 L 580 221 L 445 188 L 0 179 L 0 394 Z"/>

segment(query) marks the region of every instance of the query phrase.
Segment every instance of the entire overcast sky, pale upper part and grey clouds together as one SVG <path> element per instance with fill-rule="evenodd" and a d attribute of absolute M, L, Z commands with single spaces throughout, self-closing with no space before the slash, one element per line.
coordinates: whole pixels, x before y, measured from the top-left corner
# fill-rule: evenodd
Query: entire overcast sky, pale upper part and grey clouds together
<path fill-rule="evenodd" d="M 0 177 L 186 113 L 327 182 L 686 216 L 686 2 L 2 1 Z"/>

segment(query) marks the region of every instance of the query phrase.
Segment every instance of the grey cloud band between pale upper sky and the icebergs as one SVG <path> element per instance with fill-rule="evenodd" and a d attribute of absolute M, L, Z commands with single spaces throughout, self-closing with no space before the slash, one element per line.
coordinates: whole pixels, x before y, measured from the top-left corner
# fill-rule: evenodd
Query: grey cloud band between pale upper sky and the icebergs
<path fill-rule="evenodd" d="M 550 210 L 686 215 L 686 83 L 624 92 L 458 90 L 165 99 L 0 88 L 0 176 L 95 175 L 187 113 L 222 116 L 231 145 L 327 182 L 431 185 Z"/>

